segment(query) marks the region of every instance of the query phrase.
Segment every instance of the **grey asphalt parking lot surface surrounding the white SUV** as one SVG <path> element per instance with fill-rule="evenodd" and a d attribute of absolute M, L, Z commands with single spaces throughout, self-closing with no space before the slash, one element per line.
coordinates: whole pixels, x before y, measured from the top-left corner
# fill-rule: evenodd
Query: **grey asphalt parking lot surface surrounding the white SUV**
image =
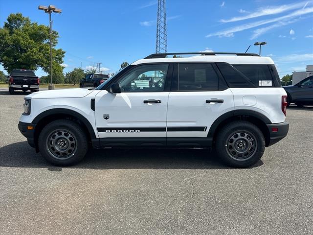
<path fill-rule="evenodd" d="M 0 89 L 0 234 L 313 234 L 313 107 L 251 168 L 202 149 L 89 150 L 72 167 L 18 130 L 23 96 Z"/>

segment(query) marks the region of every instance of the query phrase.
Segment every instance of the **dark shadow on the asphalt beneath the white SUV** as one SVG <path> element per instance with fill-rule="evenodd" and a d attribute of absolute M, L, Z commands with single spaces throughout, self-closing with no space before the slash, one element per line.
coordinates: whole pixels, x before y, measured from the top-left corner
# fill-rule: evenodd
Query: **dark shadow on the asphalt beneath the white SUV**
<path fill-rule="evenodd" d="M 48 168 L 62 167 L 47 163 L 27 141 L 0 148 L 0 166 Z M 260 160 L 250 168 L 263 164 Z M 82 162 L 68 168 L 88 169 L 229 169 L 207 149 L 89 149 Z"/>

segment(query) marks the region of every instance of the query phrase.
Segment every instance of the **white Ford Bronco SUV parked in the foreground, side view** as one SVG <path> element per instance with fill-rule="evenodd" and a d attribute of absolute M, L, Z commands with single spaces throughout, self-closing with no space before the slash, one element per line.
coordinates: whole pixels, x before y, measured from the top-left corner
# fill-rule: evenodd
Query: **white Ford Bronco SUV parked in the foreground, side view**
<path fill-rule="evenodd" d="M 146 77 L 162 82 L 136 83 Z M 226 164 L 247 167 L 287 135 L 286 99 L 268 57 L 152 54 L 96 89 L 25 96 L 19 129 L 55 165 L 78 163 L 91 145 L 214 147 Z"/>

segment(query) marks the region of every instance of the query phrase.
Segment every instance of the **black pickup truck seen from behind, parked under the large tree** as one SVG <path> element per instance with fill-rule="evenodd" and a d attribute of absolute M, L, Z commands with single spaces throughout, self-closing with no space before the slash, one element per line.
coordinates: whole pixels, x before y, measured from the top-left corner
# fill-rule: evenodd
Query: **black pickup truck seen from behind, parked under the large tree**
<path fill-rule="evenodd" d="M 13 70 L 9 77 L 9 93 L 14 94 L 16 90 L 26 92 L 39 91 L 40 79 L 31 70 Z"/>

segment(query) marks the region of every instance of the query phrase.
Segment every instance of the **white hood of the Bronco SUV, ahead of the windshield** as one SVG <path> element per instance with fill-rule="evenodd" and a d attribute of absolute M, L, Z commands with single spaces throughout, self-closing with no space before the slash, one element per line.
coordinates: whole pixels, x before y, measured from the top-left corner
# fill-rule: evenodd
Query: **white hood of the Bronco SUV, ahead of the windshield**
<path fill-rule="evenodd" d="M 35 92 L 26 95 L 28 99 L 49 99 L 49 98 L 81 98 L 94 91 L 94 88 L 70 88 L 60 90 L 48 90 Z"/>

